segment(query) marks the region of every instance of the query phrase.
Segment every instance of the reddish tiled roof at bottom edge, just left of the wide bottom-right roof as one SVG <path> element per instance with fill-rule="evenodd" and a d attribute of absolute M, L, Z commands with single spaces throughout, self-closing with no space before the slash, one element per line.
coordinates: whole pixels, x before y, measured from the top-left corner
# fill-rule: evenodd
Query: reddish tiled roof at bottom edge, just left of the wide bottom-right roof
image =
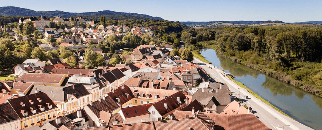
<path fill-rule="evenodd" d="M 156 130 L 210 130 L 198 118 L 183 118 L 154 122 Z"/>

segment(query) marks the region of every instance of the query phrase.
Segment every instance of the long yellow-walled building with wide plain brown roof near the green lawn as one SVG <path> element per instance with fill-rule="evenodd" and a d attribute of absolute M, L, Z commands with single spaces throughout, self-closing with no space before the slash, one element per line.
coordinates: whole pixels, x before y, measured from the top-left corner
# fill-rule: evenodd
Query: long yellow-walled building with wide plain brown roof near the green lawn
<path fill-rule="evenodd" d="M 16 81 L 27 82 L 27 83 L 34 82 L 38 85 L 59 87 L 62 85 L 62 82 L 64 81 L 65 77 L 68 77 L 68 75 L 26 73 L 21 77 L 18 77 Z"/>

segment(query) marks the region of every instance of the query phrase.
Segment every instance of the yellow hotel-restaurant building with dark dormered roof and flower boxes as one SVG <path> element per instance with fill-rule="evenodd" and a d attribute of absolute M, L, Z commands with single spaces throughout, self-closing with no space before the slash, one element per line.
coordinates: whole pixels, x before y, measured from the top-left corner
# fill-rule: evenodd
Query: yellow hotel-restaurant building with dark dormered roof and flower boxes
<path fill-rule="evenodd" d="M 37 128 L 38 124 L 57 116 L 57 106 L 42 92 L 10 99 L 8 102 L 21 119 L 19 129 Z"/>

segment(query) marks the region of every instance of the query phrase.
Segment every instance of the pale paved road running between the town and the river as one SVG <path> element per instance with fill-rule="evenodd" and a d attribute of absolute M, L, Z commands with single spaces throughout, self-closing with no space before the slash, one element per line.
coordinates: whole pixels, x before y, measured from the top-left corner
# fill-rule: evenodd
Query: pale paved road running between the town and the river
<path fill-rule="evenodd" d="M 305 126 L 296 120 L 293 120 L 277 110 L 273 109 L 266 103 L 260 101 L 255 96 L 251 95 L 247 90 L 242 89 L 242 87 L 235 84 L 230 80 L 220 68 L 213 66 L 211 64 L 204 63 L 196 58 L 194 58 L 194 63 L 203 63 L 199 65 L 203 68 L 210 76 L 217 82 L 227 83 L 229 90 L 232 92 L 232 97 L 240 97 L 247 106 L 251 105 L 253 113 L 256 117 L 260 119 L 266 126 L 272 130 L 313 130 L 312 128 Z M 211 68 L 208 67 L 211 66 Z M 239 88 L 239 89 L 238 89 Z M 250 99 L 244 99 L 244 95 L 247 95 Z M 289 126 L 288 126 L 289 125 Z"/>

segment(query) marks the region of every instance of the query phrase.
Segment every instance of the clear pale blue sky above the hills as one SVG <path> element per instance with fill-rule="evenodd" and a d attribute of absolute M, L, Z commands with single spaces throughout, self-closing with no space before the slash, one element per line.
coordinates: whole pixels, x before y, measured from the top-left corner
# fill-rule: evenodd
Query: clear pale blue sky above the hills
<path fill-rule="evenodd" d="M 0 0 L 34 11 L 141 13 L 171 21 L 322 21 L 321 0 Z"/>

